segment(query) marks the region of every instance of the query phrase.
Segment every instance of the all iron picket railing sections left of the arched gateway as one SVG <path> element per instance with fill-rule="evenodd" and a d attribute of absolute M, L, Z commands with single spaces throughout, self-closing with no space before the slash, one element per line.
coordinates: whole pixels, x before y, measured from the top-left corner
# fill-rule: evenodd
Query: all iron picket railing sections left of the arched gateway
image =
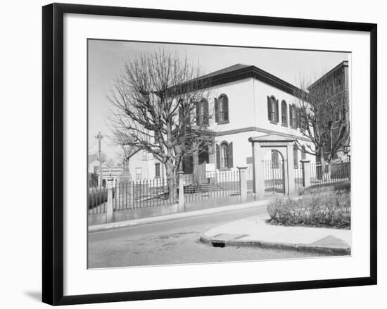
<path fill-rule="evenodd" d="M 248 191 L 253 191 L 253 172 L 247 173 Z M 183 183 L 184 202 L 225 198 L 240 195 L 239 170 L 207 172 L 199 179 L 192 174 L 180 175 Z M 179 196 L 177 182 L 176 197 Z M 150 208 L 177 203 L 170 198 L 164 178 L 113 183 L 113 211 Z M 106 213 L 108 189 L 89 188 L 89 214 Z"/>

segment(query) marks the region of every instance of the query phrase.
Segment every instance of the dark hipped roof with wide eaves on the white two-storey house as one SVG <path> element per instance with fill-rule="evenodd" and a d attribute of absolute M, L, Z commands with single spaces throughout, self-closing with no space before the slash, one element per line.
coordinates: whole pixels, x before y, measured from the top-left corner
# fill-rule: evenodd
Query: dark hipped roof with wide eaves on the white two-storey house
<path fill-rule="evenodd" d="M 265 70 L 257 68 L 255 65 L 245 65 L 241 63 L 236 63 L 227 68 L 222 68 L 221 70 L 202 75 L 195 78 L 194 80 L 190 80 L 189 82 L 203 81 L 203 88 L 208 88 L 220 84 L 226 84 L 228 82 L 234 82 L 236 80 L 244 80 L 250 77 L 253 77 L 256 80 L 260 80 L 261 82 L 265 82 L 270 86 L 281 89 L 282 91 L 291 95 L 303 91 L 293 84 L 281 80 L 281 78 L 272 75 Z"/>

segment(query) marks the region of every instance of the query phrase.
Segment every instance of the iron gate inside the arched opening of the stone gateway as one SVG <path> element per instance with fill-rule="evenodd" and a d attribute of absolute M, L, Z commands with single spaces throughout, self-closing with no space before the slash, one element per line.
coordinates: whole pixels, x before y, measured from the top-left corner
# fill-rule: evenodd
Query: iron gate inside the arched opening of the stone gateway
<path fill-rule="evenodd" d="M 264 167 L 265 193 L 285 194 L 285 167 L 281 154 L 276 150 L 272 150 L 272 160 L 265 160 Z"/>

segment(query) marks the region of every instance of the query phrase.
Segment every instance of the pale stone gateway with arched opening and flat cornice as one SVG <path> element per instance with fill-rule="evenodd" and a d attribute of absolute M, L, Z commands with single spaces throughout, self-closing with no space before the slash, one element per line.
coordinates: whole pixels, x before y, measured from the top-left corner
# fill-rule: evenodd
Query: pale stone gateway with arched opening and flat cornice
<path fill-rule="evenodd" d="M 293 145 L 296 139 L 280 134 L 250 137 L 253 151 L 254 192 L 259 198 L 265 196 L 265 156 L 269 151 L 278 151 L 284 162 L 284 194 L 292 194 L 294 186 Z"/>

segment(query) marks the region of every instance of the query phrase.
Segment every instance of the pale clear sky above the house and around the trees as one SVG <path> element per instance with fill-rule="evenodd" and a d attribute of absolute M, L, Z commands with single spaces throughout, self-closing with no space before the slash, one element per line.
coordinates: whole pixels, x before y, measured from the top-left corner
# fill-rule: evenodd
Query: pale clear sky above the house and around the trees
<path fill-rule="evenodd" d="M 114 78 L 120 74 L 127 58 L 141 52 L 165 49 L 185 56 L 198 64 L 204 74 L 241 63 L 255 65 L 277 77 L 299 86 L 300 76 L 317 80 L 341 61 L 348 60 L 350 53 L 336 51 L 300 51 L 289 49 L 263 49 L 257 47 L 203 46 L 190 44 L 163 44 L 151 42 L 124 42 L 89 39 L 88 91 L 89 91 L 89 153 L 96 153 L 96 134 L 101 132 L 102 151 L 108 158 L 118 158 L 120 147 L 112 141 L 106 117 L 110 103 L 106 94 L 110 92 Z"/>

